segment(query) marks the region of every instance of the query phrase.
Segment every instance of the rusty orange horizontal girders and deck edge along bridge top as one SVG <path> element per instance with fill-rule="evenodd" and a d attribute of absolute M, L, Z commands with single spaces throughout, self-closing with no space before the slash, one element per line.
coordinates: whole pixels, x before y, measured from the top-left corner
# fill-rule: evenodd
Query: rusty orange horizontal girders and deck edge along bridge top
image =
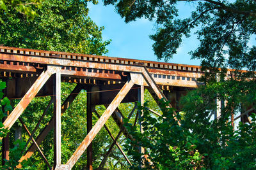
<path fill-rule="evenodd" d="M 196 81 L 204 73 L 200 71 L 198 66 L 189 66 L 182 64 L 170 64 L 162 62 L 150 62 L 143 60 L 120 59 L 113 57 L 102 57 L 92 55 L 74 55 L 68 53 L 54 52 L 31 52 L 24 50 L 28 54 L 13 53 L 12 50 L 3 49 L 0 53 L 0 60 L 10 60 L 12 62 L 24 62 L 33 64 L 52 64 L 62 66 L 63 73 L 72 76 L 95 77 L 110 80 L 121 80 L 122 76 L 118 74 L 100 73 L 100 71 L 120 71 L 121 73 L 136 72 L 141 73 L 141 66 L 147 66 L 148 71 L 154 76 L 155 81 L 159 85 L 172 85 L 184 87 L 198 87 L 200 83 Z M 31 55 L 34 53 L 34 55 Z M 38 53 L 38 55 L 35 55 Z M 56 57 L 56 53 L 60 53 Z M 40 54 L 40 55 L 39 55 Z M 69 56 L 69 57 L 67 57 Z M 1 64 L 1 63 L 0 63 Z M 66 69 L 68 68 L 68 69 Z M 85 69 L 85 71 L 83 71 Z M 87 69 L 97 70 L 95 73 L 89 73 Z"/>

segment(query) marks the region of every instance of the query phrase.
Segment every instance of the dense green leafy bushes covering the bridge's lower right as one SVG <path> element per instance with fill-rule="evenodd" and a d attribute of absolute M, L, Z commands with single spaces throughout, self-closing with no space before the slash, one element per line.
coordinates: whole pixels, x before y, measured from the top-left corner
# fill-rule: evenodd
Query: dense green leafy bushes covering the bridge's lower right
<path fill-rule="evenodd" d="M 244 107 L 255 103 L 255 92 L 255 83 L 250 81 L 208 83 L 184 97 L 183 111 L 176 116 L 181 125 L 163 100 L 162 117 L 156 118 L 140 106 L 144 132 L 127 124 L 136 139 L 127 141 L 135 162 L 132 168 L 140 169 L 144 161 L 145 169 L 255 169 L 255 114 L 251 124 L 240 123 L 235 131 L 230 122 L 232 113 L 240 113 L 241 103 Z M 221 108 L 221 117 L 212 119 L 216 99 L 227 104 Z M 138 153 L 138 146 L 145 148 L 148 157 Z"/>

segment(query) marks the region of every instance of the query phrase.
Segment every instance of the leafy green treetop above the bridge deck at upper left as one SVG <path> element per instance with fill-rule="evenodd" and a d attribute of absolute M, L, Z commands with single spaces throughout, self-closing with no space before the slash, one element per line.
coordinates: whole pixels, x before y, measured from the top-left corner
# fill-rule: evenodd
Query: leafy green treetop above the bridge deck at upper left
<path fill-rule="evenodd" d="M 97 3 L 93 1 L 93 3 Z M 87 1 L 42 1 L 32 8 L 31 20 L 10 8 L 0 11 L 6 24 L 0 26 L 0 43 L 5 46 L 102 55 L 110 41 L 102 40 L 102 29 L 88 17 Z"/>

